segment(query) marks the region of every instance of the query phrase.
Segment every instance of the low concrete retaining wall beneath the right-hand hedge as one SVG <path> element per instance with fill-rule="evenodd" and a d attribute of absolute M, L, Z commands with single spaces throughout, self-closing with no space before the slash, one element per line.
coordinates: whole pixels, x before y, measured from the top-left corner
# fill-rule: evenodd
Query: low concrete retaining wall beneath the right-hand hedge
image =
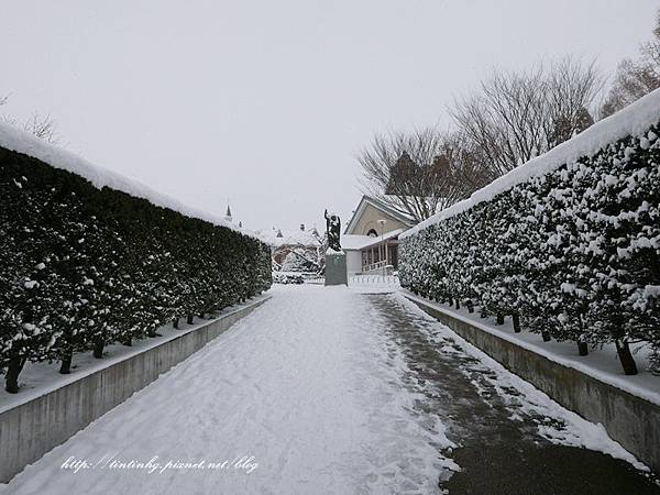
<path fill-rule="evenodd" d="M 660 473 L 660 406 L 488 333 L 417 297 L 408 299 L 565 408 L 601 422 L 610 438 Z"/>

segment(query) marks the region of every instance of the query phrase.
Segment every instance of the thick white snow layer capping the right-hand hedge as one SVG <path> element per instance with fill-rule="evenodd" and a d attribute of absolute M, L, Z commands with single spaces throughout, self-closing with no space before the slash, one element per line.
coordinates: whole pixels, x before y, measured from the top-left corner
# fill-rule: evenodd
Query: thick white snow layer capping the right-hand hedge
<path fill-rule="evenodd" d="M 414 235 L 427 227 L 461 213 L 475 205 L 493 199 L 501 193 L 532 177 L 546 175 L 566 163 L 573 163 L 583 156 L 593 156 L 609 144 L 629 135 L 640 136 L 651 125 L 660 121 L 660 89 L 640 98 L 636 102 L 619 110 L 576 136 L 565 141 L 549 152 L 524 163 L 506 175 L 493 180 L 487 186 L 473 193 L 470 198 L 459 201 L 449 208 L 429 217 L 410 230 L 399 235 L 399 239 Z"/>

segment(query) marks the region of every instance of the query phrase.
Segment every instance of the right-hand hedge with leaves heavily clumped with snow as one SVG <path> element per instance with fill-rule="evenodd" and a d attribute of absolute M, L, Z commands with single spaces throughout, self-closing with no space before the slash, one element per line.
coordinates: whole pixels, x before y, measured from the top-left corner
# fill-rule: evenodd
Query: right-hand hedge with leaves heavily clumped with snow
<path fill-rule="evenodd" d="M 585 342 L 615 342 L 627 374 L 636 373 L 630 341 L 648 342 L 658 358 L 660 111 L 649 125 L 648 106 L 659 97 L 657 91 L 647 107 L 637 107 L 647 119 L 640 132 L 557 166 L 539 157 L 542 174 L 529 166 L 514 170 L 527 176 L 505 176 L 495 191 L 486 187 L 469 205 L 405 237 L 402 285 L 432 299 L 480 306 L 499 321 L 510 315 L 517 331 L 575 340 L 583 352 Z M 623 116 L 606 127 L 635 118 L 630 110 Z M 579 135 L 560 153 L 569 156 L 588 139 Z M 660 360 L 654 366 L 660 371 Z"/>

